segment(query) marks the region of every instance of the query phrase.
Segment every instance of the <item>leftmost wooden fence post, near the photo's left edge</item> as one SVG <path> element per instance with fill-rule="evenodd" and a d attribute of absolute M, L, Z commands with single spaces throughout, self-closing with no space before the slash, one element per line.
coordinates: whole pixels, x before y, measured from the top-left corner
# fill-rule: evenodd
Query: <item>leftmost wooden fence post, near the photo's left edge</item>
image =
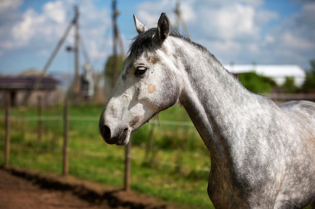
<path fill-rule="evenodd" d="M 6 151 L 5 151 L 5 166 L 9 165 L 10 158 L 10 106 L 11 92 L 6 92 Z"/>

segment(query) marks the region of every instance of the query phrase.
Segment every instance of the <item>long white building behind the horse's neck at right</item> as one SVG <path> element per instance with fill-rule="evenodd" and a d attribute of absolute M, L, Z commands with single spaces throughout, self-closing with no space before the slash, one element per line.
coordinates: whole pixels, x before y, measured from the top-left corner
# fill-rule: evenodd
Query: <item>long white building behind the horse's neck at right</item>
<path fill-rule="evenodd" d="M 305 80 L 305 71 L 297 65 L 224 65 L 224 68 L 233 74 L 256 72 L 274 79 L 282 85 L 286 77 L 293 77 L 296 86 L 301 86 Z"/>

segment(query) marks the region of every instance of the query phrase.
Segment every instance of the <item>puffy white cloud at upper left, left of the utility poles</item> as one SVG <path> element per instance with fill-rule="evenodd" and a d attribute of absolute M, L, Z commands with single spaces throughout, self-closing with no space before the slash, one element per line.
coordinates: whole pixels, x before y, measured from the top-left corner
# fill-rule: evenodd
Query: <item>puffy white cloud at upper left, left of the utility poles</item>
<path fill-rule="evenodd" d="M 27 9 L 20 14 L 17 21 L 12 22 L 6 33 L 1 34 L 2 51 L 19 49 L 26 46 L 39 46 L 42 41 L 50 41 L 61 36 L 65 28 L 66 7 L 62 2 L 48 2 L 43 6 L 42 13 Z M 13 11 L 17 15 L 17 8 Z"/>

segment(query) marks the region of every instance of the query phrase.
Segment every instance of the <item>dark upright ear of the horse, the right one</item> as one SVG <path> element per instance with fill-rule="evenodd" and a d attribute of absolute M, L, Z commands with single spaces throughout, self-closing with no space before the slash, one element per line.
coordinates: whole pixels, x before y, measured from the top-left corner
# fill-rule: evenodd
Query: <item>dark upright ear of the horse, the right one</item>
<path fill-rule="evenodd" d="M 171 24 L 168 16 L 162 13 L 159 22 L 157 22 L 157 29 L 155 33 L 155 41 L 162 45 L 166 38 L 169 36 L 171 31 Z"/>

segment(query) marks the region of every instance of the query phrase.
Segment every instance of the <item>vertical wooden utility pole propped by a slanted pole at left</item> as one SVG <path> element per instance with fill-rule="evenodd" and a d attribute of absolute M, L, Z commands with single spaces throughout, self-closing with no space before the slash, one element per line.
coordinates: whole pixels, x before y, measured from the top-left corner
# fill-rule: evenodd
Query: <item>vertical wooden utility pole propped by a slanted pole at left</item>
<path fill-rule="evenodd" d="M 73 85 L 73 96 L 74 96 L 74 103 L 75 105 L 78 104 L 80 99 L 80 77 L 79 77 L 79 50 L 78 45 L 80 41 L 80 35 L 78 32 L 78 7 L 74 6 L 74 19 L 73 19 L 73 26 L 74 26 L 74 85 Z"/>

